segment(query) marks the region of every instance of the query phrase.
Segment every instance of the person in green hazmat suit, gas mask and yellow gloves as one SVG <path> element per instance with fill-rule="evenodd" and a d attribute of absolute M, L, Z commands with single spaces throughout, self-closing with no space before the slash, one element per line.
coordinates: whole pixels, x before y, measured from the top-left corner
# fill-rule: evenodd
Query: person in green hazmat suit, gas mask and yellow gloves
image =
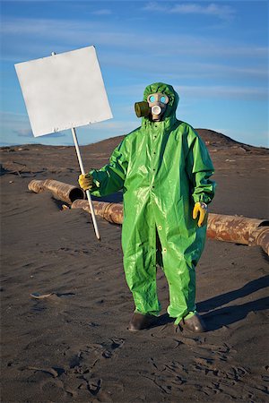
<path fill-rule="evenodd" d="M 213 163 L 195 130 L 176 118 L 178 94 L 161 82 L 134 105 L 142 124 L 113 151 L 108 165 L 79 176 L 83 190 L 105 196 L 123 189 L 122 248 L 135 311 L 129 330 L 158 321 L 156 264 L 169 285 L 175 325 L 204 331 L 195 311 L 195 266 L 204 250 L 207 205 L 213 199 Z"/>

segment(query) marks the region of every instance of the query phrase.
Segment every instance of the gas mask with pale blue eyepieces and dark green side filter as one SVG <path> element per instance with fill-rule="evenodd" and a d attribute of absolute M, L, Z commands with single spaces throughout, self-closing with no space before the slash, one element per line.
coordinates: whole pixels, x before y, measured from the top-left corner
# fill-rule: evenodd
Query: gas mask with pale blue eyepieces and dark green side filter
<path fill-rule="evenodd" d="M 135 102 L 135 114 L 137 117 L 150 116 L 153 122 L 160 122 L 168 103 L 169 97 L 167 95 L 155 92 L 148 96 L 147 102 Z"/>

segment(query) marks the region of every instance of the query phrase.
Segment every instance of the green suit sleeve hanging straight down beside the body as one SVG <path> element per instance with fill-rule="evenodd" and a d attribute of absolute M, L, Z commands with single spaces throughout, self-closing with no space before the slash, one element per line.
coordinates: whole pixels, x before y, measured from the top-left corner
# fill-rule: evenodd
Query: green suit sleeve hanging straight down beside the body
<path fill-rule="evenodd" d="M 190 148 L 187 154 L 187 174 L 191 182 L 193 200 L 209 204 L 214 197 L 215 182 L 210 179 L 214 168 L 204 141 L 192 130 Z"/>

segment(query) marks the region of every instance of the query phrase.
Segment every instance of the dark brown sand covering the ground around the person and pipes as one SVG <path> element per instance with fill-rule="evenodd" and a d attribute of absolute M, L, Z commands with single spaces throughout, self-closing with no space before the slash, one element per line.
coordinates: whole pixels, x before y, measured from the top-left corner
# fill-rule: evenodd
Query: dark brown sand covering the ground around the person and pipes
<path fill-rule="evenodd" d="M 216 168 L 211 211 L 268 218 L 268 150 L 200 133 Z M 104 165 L 119 140 L 83 147 L 85 167 Z M 159 269 L 160 325 L 132 333 L 121 227 L 99 219 L 98 242 L 89 214 L 27 188 L 33 178 L 76 184 L 74 148 L 3 148 L 2 164 L 3 402 L 268 401 L 269 276 L 259 247 L 207 241 L 197 308 L 208 332 L 175 331 Z"/>

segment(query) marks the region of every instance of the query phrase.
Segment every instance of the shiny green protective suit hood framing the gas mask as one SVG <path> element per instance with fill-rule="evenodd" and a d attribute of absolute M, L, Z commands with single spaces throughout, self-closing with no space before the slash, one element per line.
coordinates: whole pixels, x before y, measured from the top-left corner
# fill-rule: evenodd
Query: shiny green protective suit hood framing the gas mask
<path fill-rule="evenodd" d="M 163 82 L 154 82 L 153 84 L 148 85 L 143 91 L 143 100 L 146 101 L 148 96 L 155 92 L 162 92 L 169 97 L 169 104 L 165 110 L 162 120 L 166 121 L 167 125 L 169 126 L 173 125 L 177 121 L 176 110 L 179 100 L 178 93 L 169 84 L 165 84 Z M 148 122 L 150 122 L 149 118 L 143 117 L 143 124 Z"/>

